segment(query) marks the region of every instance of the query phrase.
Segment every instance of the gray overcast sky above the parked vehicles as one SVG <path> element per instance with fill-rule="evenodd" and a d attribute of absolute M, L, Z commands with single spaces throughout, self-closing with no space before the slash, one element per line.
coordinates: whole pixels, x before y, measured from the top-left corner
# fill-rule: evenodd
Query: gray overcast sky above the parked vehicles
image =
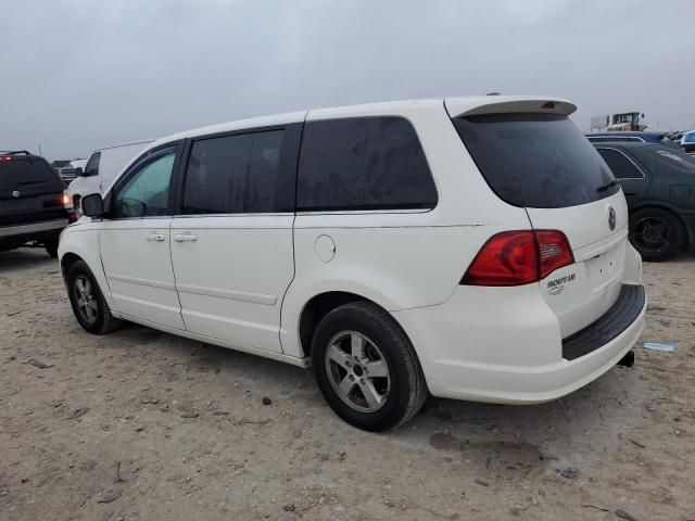
<path fill-rule="evenodd" d="M 306 107 L 553 94 L 695 127 L 695 0 L 0 0 L 0 150 Z"/>

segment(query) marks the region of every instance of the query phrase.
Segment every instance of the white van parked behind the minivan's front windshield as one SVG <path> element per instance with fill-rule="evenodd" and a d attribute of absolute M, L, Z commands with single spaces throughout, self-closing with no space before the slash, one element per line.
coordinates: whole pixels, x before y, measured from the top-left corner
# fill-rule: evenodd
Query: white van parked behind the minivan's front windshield
<path fill-rule="evenodd" d="M 108 188 L 130 160 L 137 156 L 152 140 L 116 144 L 96 150 L 89 156 L 77 178 L 67 187 L 67 195 L 79 212 L 79 200 L 90 193 L 101 193 Z"/>

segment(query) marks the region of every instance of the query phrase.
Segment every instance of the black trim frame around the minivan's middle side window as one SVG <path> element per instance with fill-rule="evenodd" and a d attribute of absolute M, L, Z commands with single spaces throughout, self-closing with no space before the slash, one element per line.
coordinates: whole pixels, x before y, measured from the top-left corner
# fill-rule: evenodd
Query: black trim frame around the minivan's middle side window
<path fill-rule="evenodd" d="M 176 193 L 173 203 L 174 216 L 177 218 L 195 218 L 195 217 L 261 217 L 261 216 L 287 216 L 294 215 L 296 209 L 296 178 L 298 166 L 300 155 L 300 140 L 302 130 L 304 128 L 304 122 L 291 122 L 277 125 L 265 125 L 261 127 L 244 127 L 235 130 L 224 130 L 214 134 L 204 134 L 201 136 L 194 136 L 186 139 L 186 143 L 182 148 L 180 164 L 177 169 L 176 179 Z M 249 134 L 260 132 L 273 132 L 277 130 L 285 131 L 282 139 L 282 148 L 280 149 L 280 161 L 285 158 L 287 164 L 285 167 L 289 167 L 290 171 L 282 173 L 282 165 L 278 165 L 278 173 L 280 176 L 286 174 L 288 179 L 285 181 L 288 183 L 288 188 L 291 192 L 288 194 L 289 209 L 287 212 L 249 212 L 249 213 L 223 213 L 223 214 L 188 214 L 184 213 L 184 190 L 186 188 L 186 178 L 188 176 L 188 163 L 195 141 L 204 141 L 206 139 L 226 138 L 229 136 L 243 136 Z M 286 156 L 286 154 L 288 154 Z M 282 179 L 280 179 L 282 181 Z"/>

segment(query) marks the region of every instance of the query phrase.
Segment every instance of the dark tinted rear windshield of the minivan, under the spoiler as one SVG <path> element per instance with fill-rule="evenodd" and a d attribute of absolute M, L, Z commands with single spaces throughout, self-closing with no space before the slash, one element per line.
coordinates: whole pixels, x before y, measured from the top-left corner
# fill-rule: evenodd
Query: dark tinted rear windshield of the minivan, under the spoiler
<path fill-rule="evenodd" d="M 567 116 L 485 114 L 457 117 L 454 125 L 490 188 L 515 206 L 577 206 L 620 190 Z"/>

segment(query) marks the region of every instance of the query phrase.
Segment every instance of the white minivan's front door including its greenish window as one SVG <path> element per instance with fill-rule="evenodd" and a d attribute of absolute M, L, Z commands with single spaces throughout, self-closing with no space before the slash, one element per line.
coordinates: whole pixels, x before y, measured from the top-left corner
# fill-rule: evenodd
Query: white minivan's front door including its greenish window
<path fill-rule="evenodd" d="M 112 191 L 99 246 L 116 312 L 185 329 L 169 243 L 176 156 L 176 147 L 159 150 L 125 174 Z"/>

